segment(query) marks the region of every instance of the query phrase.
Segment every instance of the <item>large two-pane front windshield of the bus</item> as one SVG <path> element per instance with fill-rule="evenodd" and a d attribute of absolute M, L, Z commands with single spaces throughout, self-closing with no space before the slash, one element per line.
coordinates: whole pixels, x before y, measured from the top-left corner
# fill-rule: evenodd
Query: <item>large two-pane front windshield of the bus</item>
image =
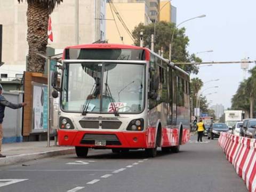
<path fill-rule="evenodd" d="M 146 65 L 65 63 L 61 107 L 77 113 L 140 113 Z"/>

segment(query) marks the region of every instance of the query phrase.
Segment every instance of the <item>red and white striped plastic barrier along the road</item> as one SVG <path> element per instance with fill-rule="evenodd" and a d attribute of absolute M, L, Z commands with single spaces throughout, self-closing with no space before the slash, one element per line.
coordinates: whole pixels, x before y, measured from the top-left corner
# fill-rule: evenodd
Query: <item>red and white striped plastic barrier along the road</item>
<path fill-rule="evenodd" d="M 222 132 L 218 143 L 247 189 L 256 192 L 256 139 Z"/>

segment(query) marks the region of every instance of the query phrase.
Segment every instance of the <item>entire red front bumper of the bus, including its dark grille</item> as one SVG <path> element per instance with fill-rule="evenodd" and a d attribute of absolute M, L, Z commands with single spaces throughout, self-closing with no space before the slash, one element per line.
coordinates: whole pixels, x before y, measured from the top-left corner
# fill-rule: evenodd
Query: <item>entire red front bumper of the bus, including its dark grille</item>
<path fill-rule="evenodd" d="M 60 146 L 90 148 L 150 148 L 146 132 L 97 132 L 58 130 Z"/>

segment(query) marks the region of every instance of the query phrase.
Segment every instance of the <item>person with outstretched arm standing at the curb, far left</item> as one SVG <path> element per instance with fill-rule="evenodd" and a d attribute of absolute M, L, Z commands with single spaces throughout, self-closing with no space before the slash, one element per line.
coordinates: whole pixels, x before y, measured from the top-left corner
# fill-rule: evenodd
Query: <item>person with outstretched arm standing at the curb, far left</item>
<path fill-rule="evenodd" d="M 4 109 L 5 109 L 5 107 L 10 107 L 12 109 L 19 109 L 19 108 L 24 107 L 24 106 L 27 105 L 27 103 L 25 103 L 25 102 L 18 103 L 18 104 L 11 103 L 11 102 L 7 101 L 2 94 L 3 94 L 3 87 L 0 84 L 0 158 L 1 157 L 6 157 L 5 155 L 1 154 L 2 140 L 3 140 L 3 126 L 2 126 L 2 123 L 3 123 L 3 118 L 4 118 Z"/>

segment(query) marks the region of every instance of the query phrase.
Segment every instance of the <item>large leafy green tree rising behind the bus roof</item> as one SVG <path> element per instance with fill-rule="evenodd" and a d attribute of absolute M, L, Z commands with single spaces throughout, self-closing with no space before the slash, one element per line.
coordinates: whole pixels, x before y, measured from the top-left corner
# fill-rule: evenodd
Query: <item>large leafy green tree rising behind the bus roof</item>
<path fill-rule="evenodd" d="M 173 31 L 173 42 L 172 42 L 172 62 L 202 62 L 202 60 L 196 57 L 195 54 L 189 56 L 187 52 L 187 46 L 189 44 L 189 38 L 185 35 L 185 28 L 177 29 L 174 23 L 165 21 L 156 23 L 156 37 L 155 37 L 155 50 L 161 50 L 163 47 L 164 58 L 169 58 L 169 45 L 171 43 Z M 140 23 L 134 28 L 132 34 L 135 39 L 135 45 L 140 45 L 140 32 L 143 31 L 143 42 L 146 47 L 151 45 L 151 34 L 154 34 L 154 23 L 150 23 L 144 26 Z M 178 65 L 188 73 L 198 73 L 198 67 L 196 65 Z"/>

